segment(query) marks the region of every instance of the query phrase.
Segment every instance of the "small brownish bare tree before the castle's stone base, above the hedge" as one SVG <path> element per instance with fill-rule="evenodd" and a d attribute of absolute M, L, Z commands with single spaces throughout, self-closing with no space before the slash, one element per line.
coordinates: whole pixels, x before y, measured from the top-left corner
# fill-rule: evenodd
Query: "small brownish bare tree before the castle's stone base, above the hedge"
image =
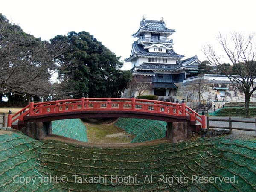
<path fill-rule="evenodd" d="M 136 91 L 140 95 L 143 95 L 146 90 L 153 87 L 151 83 L 151 77 L 148 76 L 133 76 L 131 80 L 131 92 Z"/>

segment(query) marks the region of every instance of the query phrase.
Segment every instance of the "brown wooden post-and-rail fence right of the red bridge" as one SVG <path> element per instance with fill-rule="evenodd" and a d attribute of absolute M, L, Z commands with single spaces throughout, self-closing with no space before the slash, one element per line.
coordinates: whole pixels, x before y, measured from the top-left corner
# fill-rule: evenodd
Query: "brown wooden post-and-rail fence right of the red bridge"
<path fill-rule="evenodd" d="M 218 126 L 210 126 L 209 122 L 210 121 L 223 121 L 223 122 L 228 122 L 229 126 L 228 127 L 218 127 Z M 255 129 L 247 129 L 247 128 L 236 128 L 236 127 L 232 127 L 232 122 L 242 122 L 242 123 L 254 123 L 255 124 Z M 207 133 L 209 133 L 209 128 L 218 128 L 218 129 L 229 129 L 230 133 L 232 133 L 233 129 L 236 130 L 242 130 L 242 131 L 255 131 L 256 133 L 256 119 L 255 121 L 243 121 L 243 120 L 235 120 L 235 119 L 231 119 L 231 117 L 229 117 L 228 119 L 209 119 L 209 116 L 206 117 L 206 127 L 207 127 Z"/>

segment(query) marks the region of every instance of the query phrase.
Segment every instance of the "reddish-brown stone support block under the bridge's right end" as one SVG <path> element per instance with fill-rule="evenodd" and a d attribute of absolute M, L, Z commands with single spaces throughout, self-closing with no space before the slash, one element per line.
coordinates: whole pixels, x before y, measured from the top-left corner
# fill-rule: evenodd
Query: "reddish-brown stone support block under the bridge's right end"
<path fill-rule="evenodd" d="M 167 122 L 166 138 L 171 140 L 171 143 L 189 140 L 191 136 L 192 131 L 188 122 Z"/>

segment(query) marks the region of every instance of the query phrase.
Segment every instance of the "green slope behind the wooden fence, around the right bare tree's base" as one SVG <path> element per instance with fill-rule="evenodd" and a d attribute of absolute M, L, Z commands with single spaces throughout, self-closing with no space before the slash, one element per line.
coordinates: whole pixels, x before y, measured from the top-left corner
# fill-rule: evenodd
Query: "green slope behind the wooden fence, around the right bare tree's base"
<path fill-rule="evenodd" d="M 250 115 L 256 116 L 256 108 L 250 107 Z M 209 113 L 211 116 L 245 116 L 245 109 L 244 107 L 224 107 L 218 109 L 213 113 Z"/>

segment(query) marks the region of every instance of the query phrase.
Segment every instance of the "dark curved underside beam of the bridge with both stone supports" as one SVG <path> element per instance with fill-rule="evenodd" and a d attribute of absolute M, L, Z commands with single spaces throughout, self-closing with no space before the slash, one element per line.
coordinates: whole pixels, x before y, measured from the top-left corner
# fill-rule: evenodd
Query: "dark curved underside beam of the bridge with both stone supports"
<path fill-rule="evenodd" d="M 192 125 L 189 116 L 172 116 L 145 111 L 128 110 L 99 110 L 99 111 L 71 111 L 61 113 L 49 113 L 35 116 L 24 116 L 25 130 L 23 133 L 30 137 L 43 140 L 51 134 L 51 121 L 76 118 L 138 118 L 167 122 L 166 138 L 172 143 L 177 143 L 191 137 L 192 131 L 196 131 L 195 124 Z"/>

